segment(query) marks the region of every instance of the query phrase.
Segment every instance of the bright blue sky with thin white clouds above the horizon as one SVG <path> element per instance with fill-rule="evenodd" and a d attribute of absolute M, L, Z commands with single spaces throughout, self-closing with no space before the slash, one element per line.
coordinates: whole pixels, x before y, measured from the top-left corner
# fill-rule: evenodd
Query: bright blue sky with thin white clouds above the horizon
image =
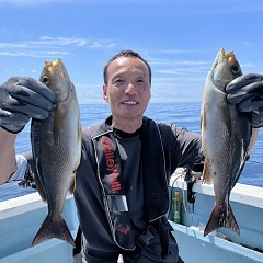
<path fill-rule="evenodd" d="M 152 67 L 152 102 L 201 101 L 219 48 L 263 72 L 262 0 L 0 0 L 0 82 L 38 79 L 61 58 L 80 103 L 102 103 L 102 70 L 122 49 Z"/>

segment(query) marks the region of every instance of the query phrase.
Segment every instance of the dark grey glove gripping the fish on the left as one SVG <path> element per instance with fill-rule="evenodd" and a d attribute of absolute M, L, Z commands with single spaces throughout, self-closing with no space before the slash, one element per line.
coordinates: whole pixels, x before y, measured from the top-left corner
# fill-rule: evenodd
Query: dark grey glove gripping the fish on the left
<path fill-rule="evenodd" d="M 54 93 L 39 81 L 25 77 L 10 78 L 0 85 L 0 126 L 19 133 L 30 118 L 47 118 L 54 100 Z"/>

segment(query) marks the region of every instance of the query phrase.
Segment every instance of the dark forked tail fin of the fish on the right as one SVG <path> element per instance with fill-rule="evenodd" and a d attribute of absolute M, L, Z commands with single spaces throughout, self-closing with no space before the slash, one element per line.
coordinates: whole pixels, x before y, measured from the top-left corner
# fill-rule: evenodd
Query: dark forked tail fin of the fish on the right
<path fill-rule="evenodd" d="M 240 235 L 239 226 L 233 216 L 233 211 L 230 205 L 225 205 L 222 209 L 218 209 L 218 207 L 214 208 L 210 218 L 205 227 L 204 236 L 221 227 L 229 228 L 237 235 Z"/>

